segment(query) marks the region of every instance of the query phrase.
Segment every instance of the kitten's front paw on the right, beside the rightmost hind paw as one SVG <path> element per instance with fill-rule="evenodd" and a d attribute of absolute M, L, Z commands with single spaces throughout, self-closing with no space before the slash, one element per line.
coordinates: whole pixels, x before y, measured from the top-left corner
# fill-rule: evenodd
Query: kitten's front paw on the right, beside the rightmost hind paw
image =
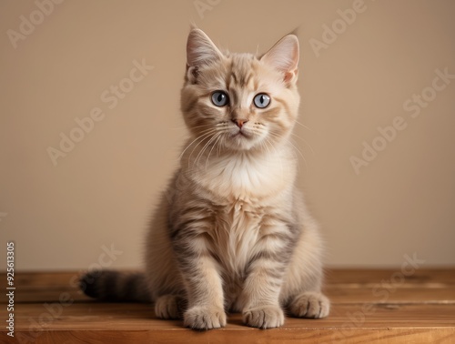
<path fill-rule="evenodd" d="M 252 328 L 271 329 L 284 324 L 284 313 L 278 306 L 264 306 L 244 310 L 242 319 Z"/>

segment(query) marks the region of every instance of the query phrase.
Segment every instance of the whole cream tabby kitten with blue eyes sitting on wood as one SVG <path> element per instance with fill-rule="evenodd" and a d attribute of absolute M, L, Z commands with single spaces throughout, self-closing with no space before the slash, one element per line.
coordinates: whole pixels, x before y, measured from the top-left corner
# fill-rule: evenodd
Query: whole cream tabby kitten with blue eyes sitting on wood
<path fill-rule="evenodd" d="M 146 272 L 92 272 L 88 296 L 155 303 L 162 319 L 191 329 L 277 328 L 283 309 L 323 318 L 321 240 L 295 187 L 289 142 L 298 117 L 298 39 L 263 56 L 221 53 L 194 28 L 187 38 L 181 110 L 191 134 L 157 207 Z"/>

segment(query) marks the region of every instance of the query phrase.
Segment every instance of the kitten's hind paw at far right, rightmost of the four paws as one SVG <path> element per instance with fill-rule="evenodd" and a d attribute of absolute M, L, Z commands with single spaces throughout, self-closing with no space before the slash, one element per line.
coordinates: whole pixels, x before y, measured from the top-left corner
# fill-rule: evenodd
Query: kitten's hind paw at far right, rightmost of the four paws
<path fill-rule="evenodd" d="M 316 292 L 302 293 L 289 304 L 290 313 L 298 318 L 325 318 L 329 310 L 329 298 Z"/>

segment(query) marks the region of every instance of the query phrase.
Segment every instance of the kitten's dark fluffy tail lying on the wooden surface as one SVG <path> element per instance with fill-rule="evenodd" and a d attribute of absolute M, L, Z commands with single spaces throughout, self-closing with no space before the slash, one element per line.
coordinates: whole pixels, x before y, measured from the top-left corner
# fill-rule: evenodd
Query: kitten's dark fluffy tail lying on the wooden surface
<path fill-rule="evenodd" d="M 146 277 L 141 272 L 97 270 L 79 279 L 79 287 L 91 298 L 116 302 L 151 302 Z"/>

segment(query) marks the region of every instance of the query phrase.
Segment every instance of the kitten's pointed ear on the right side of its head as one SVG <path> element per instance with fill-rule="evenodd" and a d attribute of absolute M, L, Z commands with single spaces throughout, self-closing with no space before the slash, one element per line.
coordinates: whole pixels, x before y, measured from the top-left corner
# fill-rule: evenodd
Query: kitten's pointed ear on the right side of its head
<path fill-rule="evenodd" d="M 298 55 L 297 35 L 285 35 L 260 60 L 278 69 L 288 83 L 297 80 Z"/>

